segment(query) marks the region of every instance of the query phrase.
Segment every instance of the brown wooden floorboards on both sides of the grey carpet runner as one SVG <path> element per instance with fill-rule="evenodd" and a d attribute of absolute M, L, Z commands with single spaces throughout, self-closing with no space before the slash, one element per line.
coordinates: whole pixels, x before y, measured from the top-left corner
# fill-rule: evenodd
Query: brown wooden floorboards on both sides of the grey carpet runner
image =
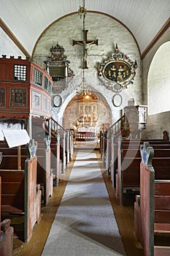
<path fill-rule="evenodd" d="M 69 163 L 63 178 L 58 187 L 54 187 L 53 197 L 50 198 L 50 202 L 45 208 L 42 208 L 42 217 L 39 223 L 34 227 L 34 234 L 31 240 L 24 244 L 18 239 L 14 239 L 14 251 L 13 256 L 40 256 L 45 246 L 45 242 L 50 232 L 50 227 L 53 224 L 53 219 L 60 206 L 63 192 L 66 188 L 68 177 L 71 173 L 74 160 L 76 158 L 77 151 L 74 151 L 74 157 Z M 123 238 L 123 244 L 125 246 L 125 252 L 127 256 L 144 256 L 140 244 L 136 241 L 134 236 L 134 207 L 119 206 L 115 191 L 112 188 L 110 178 L 103 169 L 103 165 L 100 161 L 100 155 L 96 151 L 98 161 L 101 165 L 104 181 L 109 192 L 110 201 L 115 211 L 115 217 L 120 229 L 120 234 Z"/>

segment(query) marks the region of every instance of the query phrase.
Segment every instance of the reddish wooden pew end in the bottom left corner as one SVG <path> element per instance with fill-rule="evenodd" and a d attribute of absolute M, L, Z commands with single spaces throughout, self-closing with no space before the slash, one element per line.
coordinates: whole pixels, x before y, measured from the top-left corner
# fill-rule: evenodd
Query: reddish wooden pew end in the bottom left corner
<path fill-rule="evenodd" d="M 13 255 L 13 227 L 10 227 L 10 219 L 1 222 L 1 176 L 0 176 L 0 255 Z"/>

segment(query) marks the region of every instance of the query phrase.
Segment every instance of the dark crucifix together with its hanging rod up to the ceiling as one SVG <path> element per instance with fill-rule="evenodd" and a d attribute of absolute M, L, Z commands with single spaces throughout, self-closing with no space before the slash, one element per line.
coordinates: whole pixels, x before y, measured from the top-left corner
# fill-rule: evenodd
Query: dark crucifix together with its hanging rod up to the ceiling
<path fill-rule="evenodd" d="M 88 30 L 85 29 L 85 14 L 86 14 L 86 9 L 85 9 L 85 0 L 83 1 L 83 7 L 80 7 L 80 10 L 78 11 L 80 13 L 80 18 L 83 15 L 83 40 L 82 41 L 76 41 L 73 40 L 73 46 L 74 45 L 82 45 L 83 47 L 83 65 L 82 69 L 88 69 L 87 65 L 87 53 L 88 53 L 88 48 L 87 45 L 98 45 L 98 39 L 96 40 L 88 40 Z"/>

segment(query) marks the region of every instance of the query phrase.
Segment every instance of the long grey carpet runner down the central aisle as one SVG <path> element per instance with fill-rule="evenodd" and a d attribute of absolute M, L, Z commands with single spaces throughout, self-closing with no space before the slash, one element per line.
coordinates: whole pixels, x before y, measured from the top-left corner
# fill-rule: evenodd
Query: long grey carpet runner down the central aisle
<path fill-rule="evenodd" d="M 42 256 L 125 255 L 96 154 L 80 151 Z"/>

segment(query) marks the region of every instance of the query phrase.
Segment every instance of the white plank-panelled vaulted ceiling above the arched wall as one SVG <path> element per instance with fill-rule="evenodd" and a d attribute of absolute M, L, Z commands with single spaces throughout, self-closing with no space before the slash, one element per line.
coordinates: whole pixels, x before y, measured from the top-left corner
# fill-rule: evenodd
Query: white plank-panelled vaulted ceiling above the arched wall
<path fill-rule="evenodd" d="M 31 55 L 36 40 L 58 18 L 77 12 L 82 0 L 1 0 L 0 18 Z M 170 0 L 85 0 L 88 11 L 120 20 L 142 52 L 170 17 Z"/>

